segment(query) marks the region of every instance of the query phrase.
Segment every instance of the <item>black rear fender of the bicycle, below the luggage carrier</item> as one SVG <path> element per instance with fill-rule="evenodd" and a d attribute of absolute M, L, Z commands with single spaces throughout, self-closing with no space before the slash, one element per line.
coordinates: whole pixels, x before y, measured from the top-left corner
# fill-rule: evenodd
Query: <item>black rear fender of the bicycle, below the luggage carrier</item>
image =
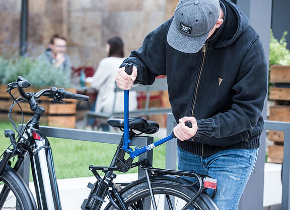
<path fill-rule="evenodd" d="M 177 181 L 180 182 L 181 184 L 190 184 L 192 182 L 188 181 L 187 179 L 184 179 L 182 177 L 177 177 L 177 176 L 170 176 L 170 175 L 156 175 L 156 176 L 151 176 L 150 180 L 160 180 L 160 179 L 167 179 L 167 180 L 173 180 L 173 181 Z M 138 179 L 136 181 L 131 182 L 130 184 L 128 184 L 125 188 L 123 188 L 120 193 L 122 193 L 124 190 L 126 190 L 127 188 L 134 186 L 136 184 L 139 184 L 141 182 L 147 182 L 146 177 Z M 197 186 L 192 186 L 192 189 L 194 189 L 196 192 L 198 191 L 198 187 Z M 206 193 L 206 192 L 201 192 L 200 197 L 202 197 L 202 199 L 206 202 L 206 204 L 208 205 L 208 207 L 210 207 L 210 209 L 212 210 L 219 210 L 220 208 L 218 207 L 218 205 L 215 204 L 215 202 L 212 200 L 212 198 Z"/>

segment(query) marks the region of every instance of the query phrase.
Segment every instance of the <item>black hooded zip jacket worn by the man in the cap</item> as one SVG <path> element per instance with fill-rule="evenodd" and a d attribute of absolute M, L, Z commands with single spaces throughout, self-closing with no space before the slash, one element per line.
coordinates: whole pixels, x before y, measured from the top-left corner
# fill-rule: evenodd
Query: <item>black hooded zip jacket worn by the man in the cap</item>
<path fill-rule="evenodd" d="M 193 116 L 198 131 L 181 149 L 207 156 L 226 149 L 259 147 L 261 112 L 267 93 L 267 63 L 259 35 L 240 9 L 221 0 L 224 23 L 194 54 L 166 41 L 172 18 L 151 32 L 121 65 L 138 69 L 135 83 L 152 84 L 167 75 L 176 122 Z"/>

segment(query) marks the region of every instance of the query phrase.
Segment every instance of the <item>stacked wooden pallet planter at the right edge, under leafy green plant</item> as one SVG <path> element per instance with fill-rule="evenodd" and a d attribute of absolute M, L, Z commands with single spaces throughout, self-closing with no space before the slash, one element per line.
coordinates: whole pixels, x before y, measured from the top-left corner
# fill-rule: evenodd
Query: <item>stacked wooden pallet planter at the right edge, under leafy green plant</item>
<path fill-rule="evenodd" d="M 290 66 L 272 65 L 270 82 L 274 87 L 269 89 L 269 99 L 275 101 L 270 107 L 270 121 L 290 122 Z M 273 145 L 268 146 L 268 162 L 282 163 L 284 132 L 269 131 L 268 139 Z"/>

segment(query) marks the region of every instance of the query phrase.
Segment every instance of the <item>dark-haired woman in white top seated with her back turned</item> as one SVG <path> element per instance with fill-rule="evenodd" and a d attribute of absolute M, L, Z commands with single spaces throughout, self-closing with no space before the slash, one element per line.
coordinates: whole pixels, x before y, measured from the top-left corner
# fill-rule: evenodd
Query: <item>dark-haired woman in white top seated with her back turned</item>
<path fill-rule="evenodd" d="M 98 89 L 95 112 L 112 113 L 116 87 L 116 74 L 124 61 L 123 42 L 114 37 L 107 41 L 106 53 L 108 57 L 102 59 L 92 79 L 92 87 Z M 137 93 L 129 93 L 129 111 L 137 109 Z M 124 92 L 117 92 L 114 112 L 124 111 Z M 103 130 L 104 126 L 101 125 Z"/>

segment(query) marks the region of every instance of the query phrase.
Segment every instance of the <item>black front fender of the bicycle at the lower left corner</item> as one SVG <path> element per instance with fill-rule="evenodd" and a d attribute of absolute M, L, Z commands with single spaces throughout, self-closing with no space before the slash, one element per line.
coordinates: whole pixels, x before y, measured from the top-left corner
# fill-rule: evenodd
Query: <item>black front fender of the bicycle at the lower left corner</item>
<path fill-rule="evenodd" d="M 36 202 L 34 200 L 33 194 L 31 192 L 31 190 L 29 189 L 27 183 L 24 181 L 23 177 L 16 170 L 14 170 L 12 167 L 10 167 L 9 165 L 7 165 L 5 167 L 5 171 L 7 171 L 16 180 L 16 182 L 19 183 L 19 185 L 22 185 L 22 189 L 23 189 L 24 193 L 29 195 L 30 200 L 28 200 L 28 202 L 29 202 L 28 204 L 30 206 L 30 209 L 37 210 L 37 205 L 36 205 Z"/>

